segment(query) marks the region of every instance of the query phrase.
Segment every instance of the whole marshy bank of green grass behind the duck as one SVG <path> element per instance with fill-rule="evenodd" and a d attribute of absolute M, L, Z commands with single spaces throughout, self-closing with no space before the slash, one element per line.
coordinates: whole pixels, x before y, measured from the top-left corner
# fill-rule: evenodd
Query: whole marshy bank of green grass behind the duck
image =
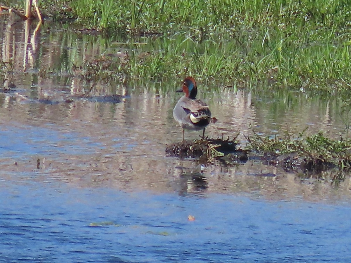
<path fill-rule="evenodd" d="M 72 9 L 69 17 L 77 18 L 76 26 L 98 29 L 107 39 L 120 34 L 150 36 L 147 46 L 131 45 L 130 59 L 117 69 L 118 74 L 135 79 L 193 75 L 203 82 L 238 88 L 346 93 L 351 88 L 349 0 L 48 0 L 40 4 L 52 15 Z M 145 52 L 150 54 L 144 56 Z"/>

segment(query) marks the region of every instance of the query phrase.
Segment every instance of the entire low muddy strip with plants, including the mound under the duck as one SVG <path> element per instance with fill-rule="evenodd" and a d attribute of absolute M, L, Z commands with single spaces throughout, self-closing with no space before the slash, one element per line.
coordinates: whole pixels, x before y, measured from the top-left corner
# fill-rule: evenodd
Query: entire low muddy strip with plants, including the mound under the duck
<path fill-rule="evenodd" d="M 312 136 L 265 137 L 253 132 L 247 136 L 244 150 L 238 148 L 235 140 L 200 139 L 183 141 L 166 147 L 166 153 L 180 158 L 198 158 L 207 163 L 219 160 L 225 165 L 246 162 L 258 157 L 265 164 L 283 167 L 289 172 L 319 174 L 330 168 L 340 171 L 351 168 L 351 139 L 333 140 L 319 132 Z"/>

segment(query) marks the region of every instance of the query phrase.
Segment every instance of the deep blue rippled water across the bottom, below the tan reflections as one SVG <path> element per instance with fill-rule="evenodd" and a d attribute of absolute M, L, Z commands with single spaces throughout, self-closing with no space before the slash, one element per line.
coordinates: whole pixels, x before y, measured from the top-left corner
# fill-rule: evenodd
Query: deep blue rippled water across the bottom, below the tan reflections
<path fill-rule="evenodd" d="M 2 181 L 0 209 L 2 262 L 351 262 L 341 202 Z"/>

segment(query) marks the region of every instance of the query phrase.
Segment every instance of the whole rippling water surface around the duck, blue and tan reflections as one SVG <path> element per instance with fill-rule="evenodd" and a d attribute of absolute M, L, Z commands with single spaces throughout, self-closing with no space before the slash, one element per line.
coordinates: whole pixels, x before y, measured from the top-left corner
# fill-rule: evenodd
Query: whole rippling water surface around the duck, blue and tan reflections
<path fill-rule="evenodd" d="M 91 88 L 67 74 L 69 63 L 122 49 L 48 24 L 34 44 L 24 22 L 0 23 L 0 58 L 13 61 L 16 85 L 0 94 L 2 261 L 350 261 L 348 176 L 333 184 L 255 161 L 203 166 L 166 157 L 165 146 L 181 140 L 172 117 L 179 83 L 99 83 L 93 95 L 120 94 L 121 102 L 64 103 Z M 210 137 L 239 133 L 244 142 L 250 127 L 268 135 L 287 126 L 330 136 L 345 129 L 337 98 L 198 84 L 219 119 Z M 38 101 L 46 98 L 55 103 Z"/>

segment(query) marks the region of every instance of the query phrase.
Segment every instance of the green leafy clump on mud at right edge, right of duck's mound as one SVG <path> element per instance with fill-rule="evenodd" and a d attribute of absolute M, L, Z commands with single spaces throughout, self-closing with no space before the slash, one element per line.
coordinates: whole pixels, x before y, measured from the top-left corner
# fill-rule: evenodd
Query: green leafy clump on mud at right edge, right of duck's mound
<path fill-rule="evenodd" d="M 330 167 L 339 169 L 351 168 L 351 139 L 333 140 L 319 132 L 304 137 L 304 132 L 292 138 L 286 133 L 285 137 L 263 137 L 254 133 L 246 137 L 247 150 L 274 157 L 271 163 L 283 162 L 286 168 L 301 166 L 306 170 L 325 170 Z M 284 158 L 281 158 L 283 156 Z"/>

